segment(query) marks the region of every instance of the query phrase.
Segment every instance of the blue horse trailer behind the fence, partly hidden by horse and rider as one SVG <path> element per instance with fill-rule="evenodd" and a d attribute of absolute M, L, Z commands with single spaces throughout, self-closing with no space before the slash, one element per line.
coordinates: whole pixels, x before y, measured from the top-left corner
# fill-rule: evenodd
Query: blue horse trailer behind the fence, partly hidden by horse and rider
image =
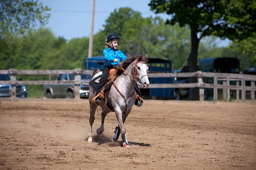
<path fill-rule="evenodd" d="M 94 70 L 95 68 L 103 69 L 103 56 L 95 56 L 86 58 L 85 69 Z M 170 73 L 172 70 L 172 62 L 160 58 L 148 58 L 147 65 L 150 73 Z M 171 78 L 149 78 L 152 84 L 167 84 L 172 83 Z M 144 99 L 174 99 L 173 88 L 148 88 L 142 89 L 141 94 Z"/>

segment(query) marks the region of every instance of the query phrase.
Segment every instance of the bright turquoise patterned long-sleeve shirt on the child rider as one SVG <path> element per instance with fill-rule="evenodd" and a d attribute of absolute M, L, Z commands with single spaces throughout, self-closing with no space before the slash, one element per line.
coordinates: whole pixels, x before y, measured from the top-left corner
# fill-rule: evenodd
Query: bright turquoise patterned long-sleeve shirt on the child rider
<path fill-rule="evenodd" d="M 118 60 L 118 63 L 126 60 L 126 56 L 121 50 L 114 50 L 113 48 L 104 49 L 103 58 L 105 60 L 104 66 L 116 65 L 117 62 L 114 62 L 115 58 Z"/>

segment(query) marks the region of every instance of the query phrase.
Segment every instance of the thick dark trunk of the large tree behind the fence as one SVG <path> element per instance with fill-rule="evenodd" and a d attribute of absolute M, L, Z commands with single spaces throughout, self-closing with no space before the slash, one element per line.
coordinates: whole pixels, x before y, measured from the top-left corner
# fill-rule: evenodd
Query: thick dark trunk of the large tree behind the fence
<path fill-rule="evenodd" d="M 191 31 L 191 52 L 188 57 L 188 70 L 189 72 L 197 71 L 197 54 L 198 54 L 198 46 L 200 39 L 197 38 L 197 29 L 193 26 L 190 26 Z M 189 83 L 197 82 L 196 77 L 189 78 Z M 198 100 L 199 99 L 199 89 L 198 88 L 189 88 L 189 99 Z"/>

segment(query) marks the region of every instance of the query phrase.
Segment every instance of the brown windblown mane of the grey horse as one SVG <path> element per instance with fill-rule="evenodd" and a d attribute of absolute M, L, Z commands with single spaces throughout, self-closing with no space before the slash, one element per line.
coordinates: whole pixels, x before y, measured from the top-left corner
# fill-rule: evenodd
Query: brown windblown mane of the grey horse
<path fill-rule="evenodd" d="M 120 66 L 123 67 L 123 69 L 126 69 L 132 62 L 134 62 L 137 59 L 138 59 L 138 62 L 147 62 L 148 61 L 147 54 L 143 54 L 143 55 L 136 54 L 136 55 L 132 55 L 132 56 L 130 56 L 128 54 L 128 57 L 126 58 L 125 61 L 120 63 Z M 120 74 L 122 74 L 123 69 L 118 67 L 116 73 L 111 75 L 110 79 L 115 80 Z"/>

